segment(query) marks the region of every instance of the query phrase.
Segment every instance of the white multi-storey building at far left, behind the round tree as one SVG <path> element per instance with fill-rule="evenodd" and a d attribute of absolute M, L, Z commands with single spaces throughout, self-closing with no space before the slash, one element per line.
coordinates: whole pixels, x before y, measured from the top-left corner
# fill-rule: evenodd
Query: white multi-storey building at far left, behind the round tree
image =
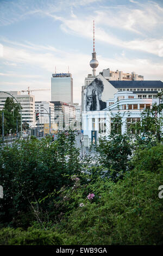
<path fill-rule="evenodd" d="M 34 126 L 35 122 L 35 96 L 23 95 L 21 92 L 8 92 L 13 95 L 18 103 L 22 106 L 22 123 L 26 122 L 30 127 Z M 3 109 L 5 100 L 7 97 L 11 97 L 9 94 L 0 93 L 0 110 Z M 14 102 L 16 102 L 14 100 Z M 16 102 L 17 103 L 17 102 Z"/>

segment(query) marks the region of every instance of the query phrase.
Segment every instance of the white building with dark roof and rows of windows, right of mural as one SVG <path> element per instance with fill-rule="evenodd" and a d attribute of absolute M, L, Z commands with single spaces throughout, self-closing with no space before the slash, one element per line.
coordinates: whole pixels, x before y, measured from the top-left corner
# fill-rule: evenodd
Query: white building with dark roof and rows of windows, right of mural
<path fill-rule="evenodd" d="M 105 88 L 104 86 L 102 95 L 102 100 L 108 97 L 106 108 L 86 111 L 84 107 L 85 110 L 82 113 L 82 117 L 85 147 L 89 147 L 91 144 L 92 131 L 97 131 L 97 142 L 99 136 L 110 134 L 112 115 L 118 112 L 122 114 L 122 133 L 124 133 L 130 123 L 140 120 L 143 109 L 150 108 L 153 103 L 159 102 L 156 94 L 163 90 L 163 83 L 161 81 L 132 81 L 131 84 L 127 85 L 126 82 L 112 81 L 111 83 L 109 81 L 109 84 L 105 84 L 109 87 Z M 106 94 L 107 89 L 108 94 Z M 113 94 L 111 90 L 114 91 L 114 89 L 117 92 L 109 99 L 110 95 L 112 96 Z"/>

